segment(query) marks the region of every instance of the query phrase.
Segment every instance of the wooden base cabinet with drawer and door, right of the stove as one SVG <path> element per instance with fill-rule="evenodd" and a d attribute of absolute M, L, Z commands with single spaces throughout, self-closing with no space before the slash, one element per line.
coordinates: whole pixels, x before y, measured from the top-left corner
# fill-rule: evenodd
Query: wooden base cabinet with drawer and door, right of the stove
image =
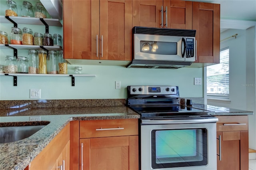
<path fill-rule="evenodd" d="M 217 170 L 248 170 L 248 116 L 217 118 Z"/>

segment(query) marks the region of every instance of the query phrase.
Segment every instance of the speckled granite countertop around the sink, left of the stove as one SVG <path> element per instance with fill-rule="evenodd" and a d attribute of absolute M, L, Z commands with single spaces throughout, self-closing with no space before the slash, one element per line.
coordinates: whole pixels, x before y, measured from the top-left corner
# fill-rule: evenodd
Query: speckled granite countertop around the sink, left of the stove
<path fill-rule="evenodd" d="M 26 168 L 70 121 L 140 118 L 140 115 L 125 106 L 1 109 L 1 126 L 8 126 L 9 122 L 10 124 L 26 123 L 30 116 L 35 115 L 40 115 L 41 121 L 50 121 L 50 123 L 28 138 L 0 144 L 0 169 Z"/>

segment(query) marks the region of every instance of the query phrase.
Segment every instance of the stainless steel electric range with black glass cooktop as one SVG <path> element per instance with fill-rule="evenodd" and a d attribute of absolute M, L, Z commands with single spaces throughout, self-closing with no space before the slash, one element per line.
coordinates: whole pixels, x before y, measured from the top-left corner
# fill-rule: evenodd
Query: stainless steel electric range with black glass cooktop
<path fill-rule="evenodd" d="M 128 86 L 140 114 L 140 170 L 216 170 L 214 112 L 180 105 L 178 86 Z"/>

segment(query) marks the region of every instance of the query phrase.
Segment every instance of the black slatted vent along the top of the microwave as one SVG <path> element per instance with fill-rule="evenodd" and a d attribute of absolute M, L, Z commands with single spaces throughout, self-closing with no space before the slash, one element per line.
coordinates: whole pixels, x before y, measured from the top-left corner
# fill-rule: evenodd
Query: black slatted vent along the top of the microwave
<path fill-rule="evenodd" d="M 134 27 L 133 28 L 133 34 L 150 34 L 150 35 L 160 35 L 160 36 L 195 37 L 196 36 L 196 30 Z"/>

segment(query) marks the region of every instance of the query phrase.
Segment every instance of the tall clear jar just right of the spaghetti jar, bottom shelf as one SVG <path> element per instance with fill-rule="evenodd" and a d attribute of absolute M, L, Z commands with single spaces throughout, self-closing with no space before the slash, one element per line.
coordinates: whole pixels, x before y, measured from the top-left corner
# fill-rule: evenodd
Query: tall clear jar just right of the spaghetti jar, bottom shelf
<path fill-rule="evenodd" d="M 56 51 L 48 51 L 49 60 L 47 63 L 48 74 L 58 74 L 58 56 Z"/>

